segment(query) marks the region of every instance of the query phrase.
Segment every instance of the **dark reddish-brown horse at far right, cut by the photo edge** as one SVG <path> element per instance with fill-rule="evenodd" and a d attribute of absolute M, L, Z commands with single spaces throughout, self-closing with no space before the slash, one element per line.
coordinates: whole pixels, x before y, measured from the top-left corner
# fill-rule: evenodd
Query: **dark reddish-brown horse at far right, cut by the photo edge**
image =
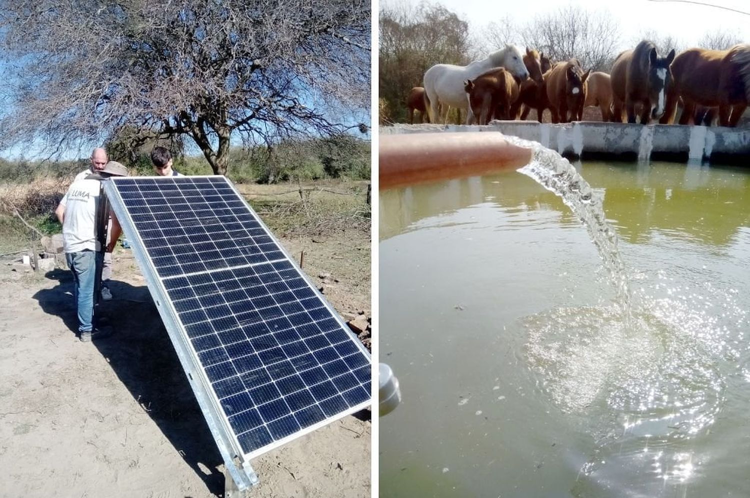
<path fill-rule="evenodd" d="M 684 108 L 679 124 L 688 124 L 697 106 L 718 107 L 718 123 L 734 127 L 750 104 L 750 44 L 727 50 L 687 49 L 672 63 L 673 85 L 659 122 L 673 123 L 676 104 Z"/>

